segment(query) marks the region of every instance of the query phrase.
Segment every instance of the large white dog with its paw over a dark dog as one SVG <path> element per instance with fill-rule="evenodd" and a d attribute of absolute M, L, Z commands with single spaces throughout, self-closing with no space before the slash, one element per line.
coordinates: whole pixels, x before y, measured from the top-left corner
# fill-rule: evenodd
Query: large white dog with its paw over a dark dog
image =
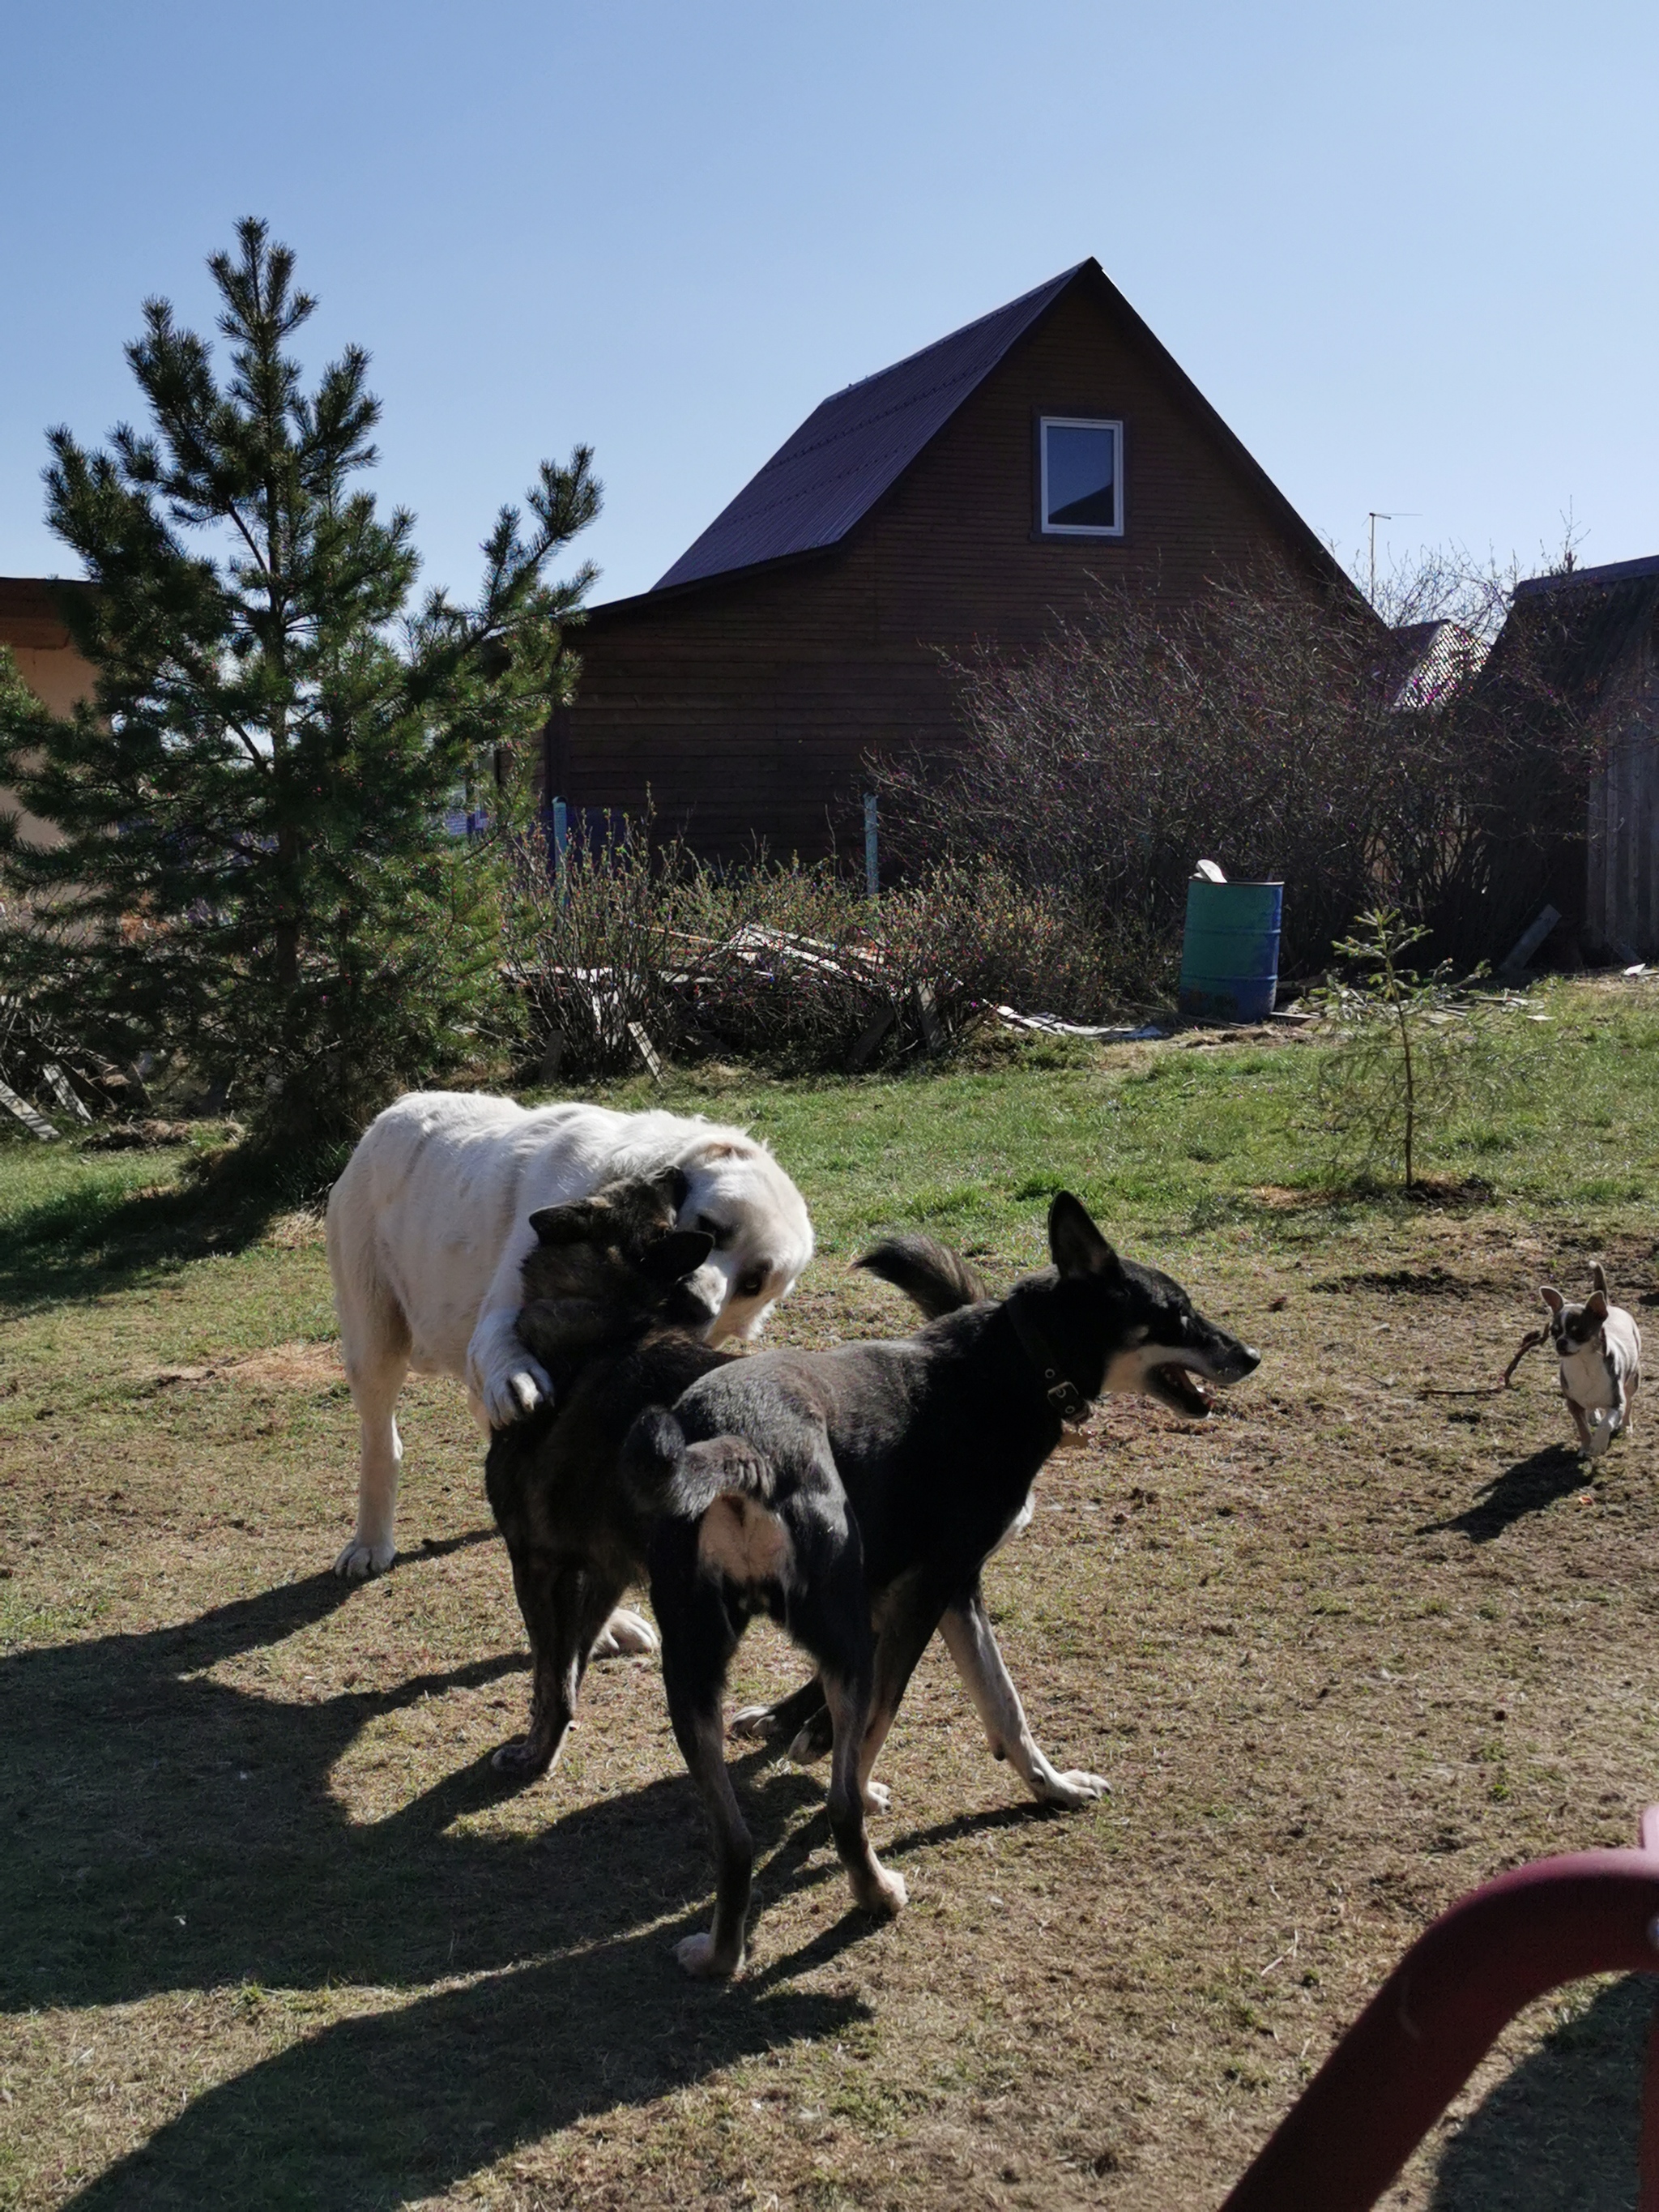
<path fill-rule="evenodd" d="M 710 1336 L 759 1336 L 812 1259 L 812 1221 L 776 1159 L 741 1128 L 606 1106 L 524 1108 L 462 1091 L 414 1091 L 367 1128 L 327 1201 L 327 1267 L 363 1440 L 356 1535 L 336 1575 L 392 1564 L 403 1462 L 394 1407 L 411 1367 L 465 1383 L 484 1431 L 551 1394 L 515 1332 L 538 1206 L 664 1168 L 688 1181 L 681 1228 L 714 1239 Z M 597 1648 L 653 1644 L 637 1615 L 617 1613 Z"/>

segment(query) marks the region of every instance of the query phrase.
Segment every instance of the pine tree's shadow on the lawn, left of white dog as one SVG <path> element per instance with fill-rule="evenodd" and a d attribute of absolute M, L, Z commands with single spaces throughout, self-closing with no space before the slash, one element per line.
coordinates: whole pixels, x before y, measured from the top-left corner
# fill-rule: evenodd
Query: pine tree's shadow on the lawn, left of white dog
<path fill-rule="evenodd" d="M 7 1219 L 0 1307 L 27 1314 L 66 1298 L 102 1298 L 177 1274 L 197 1259 L 241 1252 L 276 1214 L 316 1206 L 345 1164 L 338 1148 L 290 1157 L 237 1146 L 168 1188 L 131 1190 L 88 1179 Z M 173 1172 L 173 1155 L 155 1161 Z"/>

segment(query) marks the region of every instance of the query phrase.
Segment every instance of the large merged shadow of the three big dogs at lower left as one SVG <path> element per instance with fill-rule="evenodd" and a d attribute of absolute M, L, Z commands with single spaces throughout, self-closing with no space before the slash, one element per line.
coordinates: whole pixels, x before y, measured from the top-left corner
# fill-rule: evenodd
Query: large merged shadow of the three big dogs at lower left
<path fill-rule="evenodd" d="M 179 1628 L 0 1661 L 0 2002 L 9 2011 L 221 1991 L 285 2022 L 338 1984 L 409 2002 L 334 2020 L 192 2099 L 84 2208 L 367 2205 L 440 2194 L 511 2150 L 796 2037 L 863 2017 L 799 1975 L 874 1933 L 847 1911 L 796 1958 L 730 1989 L 690 1984 L 672 1944 L 706 1920 L 701 1809 L 684 1772 L 480 1832 L 487 1761 L 374 1825 L 330 1772 L 378 1714 L 522 1670 L 520 1655 L 394 1690 L 274 1703 L 212 1677 L 319 1630 L 352 1593 L 314 1575 Z M 639 1681 L 657 1697 L 655 1681 Z M 821 1783 L 739 1761 L 761 1909 L 843 1876 Z M 168 2022 L 170 2022 L 168 2013 Z M 157 2033 L 173 2033 L 159 2024 Z"/>

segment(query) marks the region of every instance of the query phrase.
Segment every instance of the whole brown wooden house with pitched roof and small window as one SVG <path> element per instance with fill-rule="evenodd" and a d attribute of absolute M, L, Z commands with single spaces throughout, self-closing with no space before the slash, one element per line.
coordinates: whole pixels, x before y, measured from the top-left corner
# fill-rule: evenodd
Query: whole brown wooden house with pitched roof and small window
<path fill-rule="evenodd" d="M 1352 591 L 1097 261 L 827 398 L 646 593 L 595 606 L 546 794 L 712 856 L 858 845 L 860 761 L 960 737 L 945 657 L 1099 582 Z"/>

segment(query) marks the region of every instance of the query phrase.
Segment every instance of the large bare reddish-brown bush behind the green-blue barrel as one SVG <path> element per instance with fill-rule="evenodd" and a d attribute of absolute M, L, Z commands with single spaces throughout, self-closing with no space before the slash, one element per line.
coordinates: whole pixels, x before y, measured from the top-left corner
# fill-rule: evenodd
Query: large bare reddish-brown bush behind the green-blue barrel
<path fill-rule="evenodd" d="M 1453 619 L 1464 677 L 1502 622 L 1509 580 L 1427 562 L 1389 591 L 1389 624 Z M 1199 856 L 1283 878 L 1281 967 L 1307 973 L 1378 902 L 1438 958 L 1498 958 L 1559 869 L 1582 805 L 1582 732 L 1509 653 L 1504 684 L 1402 699 L 1402 639 L 1352 591 L 1256 573 L 1170 604 L 1102 588 L 1024 657 L 953 664 L 964 743 L 942 761 L 872 763 L 896 858 L 936 869 L 989 854 L 1082 931 L 1075 998 L 1170 993 Z M 1540 717 L 1553 737 L 1540 741 Z M 1571 721 L 1571 714 L 1568 714 Z"/>

